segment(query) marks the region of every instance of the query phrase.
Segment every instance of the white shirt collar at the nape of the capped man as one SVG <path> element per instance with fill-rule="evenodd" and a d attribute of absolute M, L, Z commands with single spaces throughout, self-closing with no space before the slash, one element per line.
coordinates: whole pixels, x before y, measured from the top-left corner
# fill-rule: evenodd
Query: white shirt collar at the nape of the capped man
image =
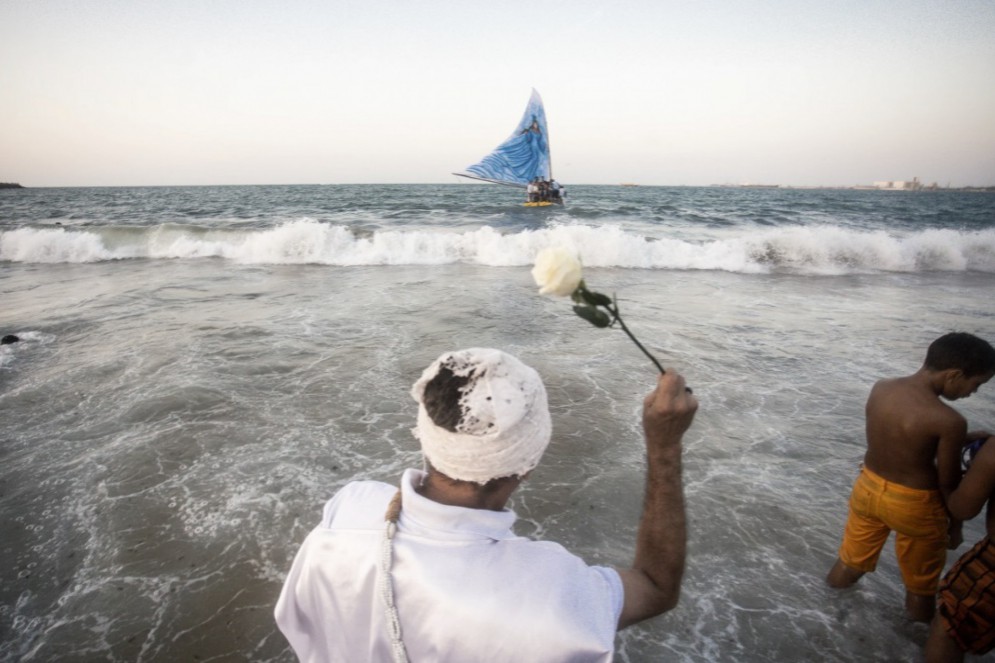
<path fill-rule="evenodd" d="M 423 534 L 449 540 L 514 539 L 511 531 L 517 516 L 511 509 L 490 511 L 439 504 L 415 490 L 428 476 L 408 469 L 401 477 L 401 518 L 398 528 L 405 533 Z"/>

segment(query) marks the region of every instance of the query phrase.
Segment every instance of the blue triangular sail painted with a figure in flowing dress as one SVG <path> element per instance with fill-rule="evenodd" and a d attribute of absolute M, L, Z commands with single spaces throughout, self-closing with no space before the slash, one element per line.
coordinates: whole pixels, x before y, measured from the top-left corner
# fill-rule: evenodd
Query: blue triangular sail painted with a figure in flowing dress
<path fill-rule="evenodd" d="M 478 163 L 468 166 L 464 177 L 500 184 L 525 186 L 535 178 L 552 179 L 549 166 L 549 132 L 542 98 L 532 90 L 525 114 L 508 140 Z"/>

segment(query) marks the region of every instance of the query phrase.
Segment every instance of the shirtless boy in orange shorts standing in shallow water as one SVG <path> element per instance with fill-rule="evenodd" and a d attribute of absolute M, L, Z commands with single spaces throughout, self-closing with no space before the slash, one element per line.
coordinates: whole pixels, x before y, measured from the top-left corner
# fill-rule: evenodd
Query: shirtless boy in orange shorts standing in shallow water
<path fill-rule="evenodd" d="M 995 349 L 965 333 L 930 344 L 922 368 L 881 380 L 866 407 L 867 453 L 850 495 L 850 513 L 831 587 L 850 587 L 874 571 L 891 530 L 905 584 L 905 609 L 928 622 L 946 548 L 962 539 L 961 521 L 948 518 L 946 499 L 960 481 L 967 421 L 940 400 L 966 398 L 995 374 Z"/>

